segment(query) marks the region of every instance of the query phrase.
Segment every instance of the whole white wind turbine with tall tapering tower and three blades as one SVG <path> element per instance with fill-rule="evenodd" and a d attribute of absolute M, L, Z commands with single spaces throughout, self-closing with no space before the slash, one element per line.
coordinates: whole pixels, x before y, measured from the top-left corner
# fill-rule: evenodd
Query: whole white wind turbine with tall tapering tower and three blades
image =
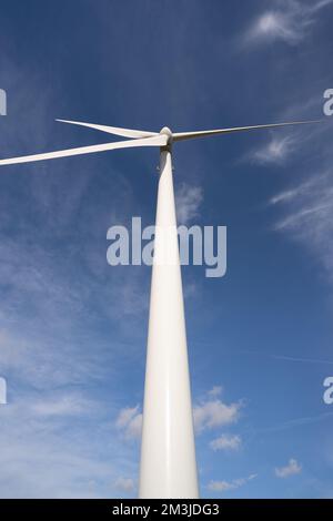
<path fill-rule="evenodd" d="M 133 146 L 160 147 L 160 178 L 155 221 L 154 259 L 149 311 L 140 464 L 140 498 L 198 498 L 193 418 L 188 362 L 183 290 L 181 280 L 174 191 L 172 144 L 216 134 L 314 123 L 311 121 L 236 126 L 209 131 L 160 133 L 80 121 L 57 120 L 130 137 L 78 149 L 0 160 L 0 165 L 30 163 Z M 165 233 L 167 231 L 167 233 Z M 169 259 L 159 262 L 168 251 Z"/>

